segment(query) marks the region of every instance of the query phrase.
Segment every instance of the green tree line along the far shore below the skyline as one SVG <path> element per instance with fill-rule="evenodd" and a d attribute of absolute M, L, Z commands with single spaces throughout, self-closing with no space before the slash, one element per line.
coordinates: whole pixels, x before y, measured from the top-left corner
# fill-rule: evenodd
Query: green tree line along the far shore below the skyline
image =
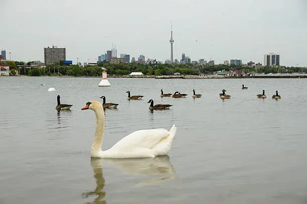
<path fill-rule="evenodd" d="M 31 68 L 25 66 L 25 62 L 9 61 L 7 64 L 10 66 L 11 73 L 18 72 L 21 75 L 28 76 L 75 76 L 75 77 L 93 77 L 101 76 L 104 67 L 109 77 L 156 77 L 156 78 L 192 78 L 191 76 L 199 76 L 198 78 L 206 78 L 206 75 L 213 74 L 217 71 L 223 70 L 225 73 L 235 74 L 222 74 L 220 77 L 261 77 L 254 75 L 254 73 L 299 73 L 307 72 L 306 67 L 262 67 L 260 69 L 254 69 L 253 67 L 235 66 L 235 65 L 193 65 L 190 63 L 185 64 L 139 64 L 139 63 L 126 63 L 126 64 L 109 64 L 98 63 L 97 66 L 87 65 L 80 67 L 78 65 L 59 65 L 52 64 L 41 68 Z M 131 72 L 142 72 L 143 76 L 127 76 Z M 180 76 L 175 76 L 175 73 L 179 73 Z M 247 73 L 249 73 L 247 75 Z M 201 75 L 201 76 L 200 76 Z M 189 76 L 189 77 L 188 77 Z M 208 77 L 208 76 L 207 76 Z M 266 77 L 269 77 L 266 75 Z M 276 77 L 274 75 L 274 77 Z M 281 77 L 281 76 L 280 76 Z"/>

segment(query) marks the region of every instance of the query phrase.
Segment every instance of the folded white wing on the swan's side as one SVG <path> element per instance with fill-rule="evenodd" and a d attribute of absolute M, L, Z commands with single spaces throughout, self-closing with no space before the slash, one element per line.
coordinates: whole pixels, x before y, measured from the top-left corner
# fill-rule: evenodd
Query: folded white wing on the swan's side
<path fill-rule="evenodd" d="M 166 129 L 138 130 L 119 140 L 111 149 L 131 150 L 135 148 L 154 148 L 169 136 Z"/>

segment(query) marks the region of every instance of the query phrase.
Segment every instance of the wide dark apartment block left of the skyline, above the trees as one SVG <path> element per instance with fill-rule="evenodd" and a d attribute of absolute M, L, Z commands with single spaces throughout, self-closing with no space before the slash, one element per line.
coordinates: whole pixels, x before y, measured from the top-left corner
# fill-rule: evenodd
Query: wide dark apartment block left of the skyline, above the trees
<path fill-rule="evenodd" d="M 60 63 L 66 60 L 66 48 L 58 48 L 57 46 L 44 48 L 44 61 L 45 65 Z"/>

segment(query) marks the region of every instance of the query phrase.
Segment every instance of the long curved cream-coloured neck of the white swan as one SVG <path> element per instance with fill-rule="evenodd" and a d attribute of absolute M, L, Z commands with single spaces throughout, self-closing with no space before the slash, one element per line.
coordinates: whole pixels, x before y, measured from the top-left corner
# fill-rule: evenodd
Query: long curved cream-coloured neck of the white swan
<path fill-rule="evenodd" d="M 104 112 L 102 106 L 94 110 L 94 112 L 96 115 L 97 122 L 91 154 L 97 155 L 101 152 L 101 144 L 104 132 Z"/>

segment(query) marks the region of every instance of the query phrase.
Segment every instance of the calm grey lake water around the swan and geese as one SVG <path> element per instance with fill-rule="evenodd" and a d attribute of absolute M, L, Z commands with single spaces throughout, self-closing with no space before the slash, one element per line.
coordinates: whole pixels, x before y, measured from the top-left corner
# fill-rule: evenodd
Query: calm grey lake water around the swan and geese
<path fill-rule="evenodd" d="M 306 79 L 108 80 L 0 78 L 1 204 L 307 202 Z M 161 98 L 160 89 L 189 95 Z M 220 99 L 222 89 L 231 99 Z M 262 89 L 266 99 L 256 97 Z M 143 100 L 128 101 L 127 90 Z M 58 92 L 70 112 L 55 110 Z M 176 123 L 169 156 L 91 159 L 96 118 L 81 108 L 102 95 L 119 104 L 105 111 L 103 150 Z M 173 107 L 151 113 L 149 99 Z"/>

